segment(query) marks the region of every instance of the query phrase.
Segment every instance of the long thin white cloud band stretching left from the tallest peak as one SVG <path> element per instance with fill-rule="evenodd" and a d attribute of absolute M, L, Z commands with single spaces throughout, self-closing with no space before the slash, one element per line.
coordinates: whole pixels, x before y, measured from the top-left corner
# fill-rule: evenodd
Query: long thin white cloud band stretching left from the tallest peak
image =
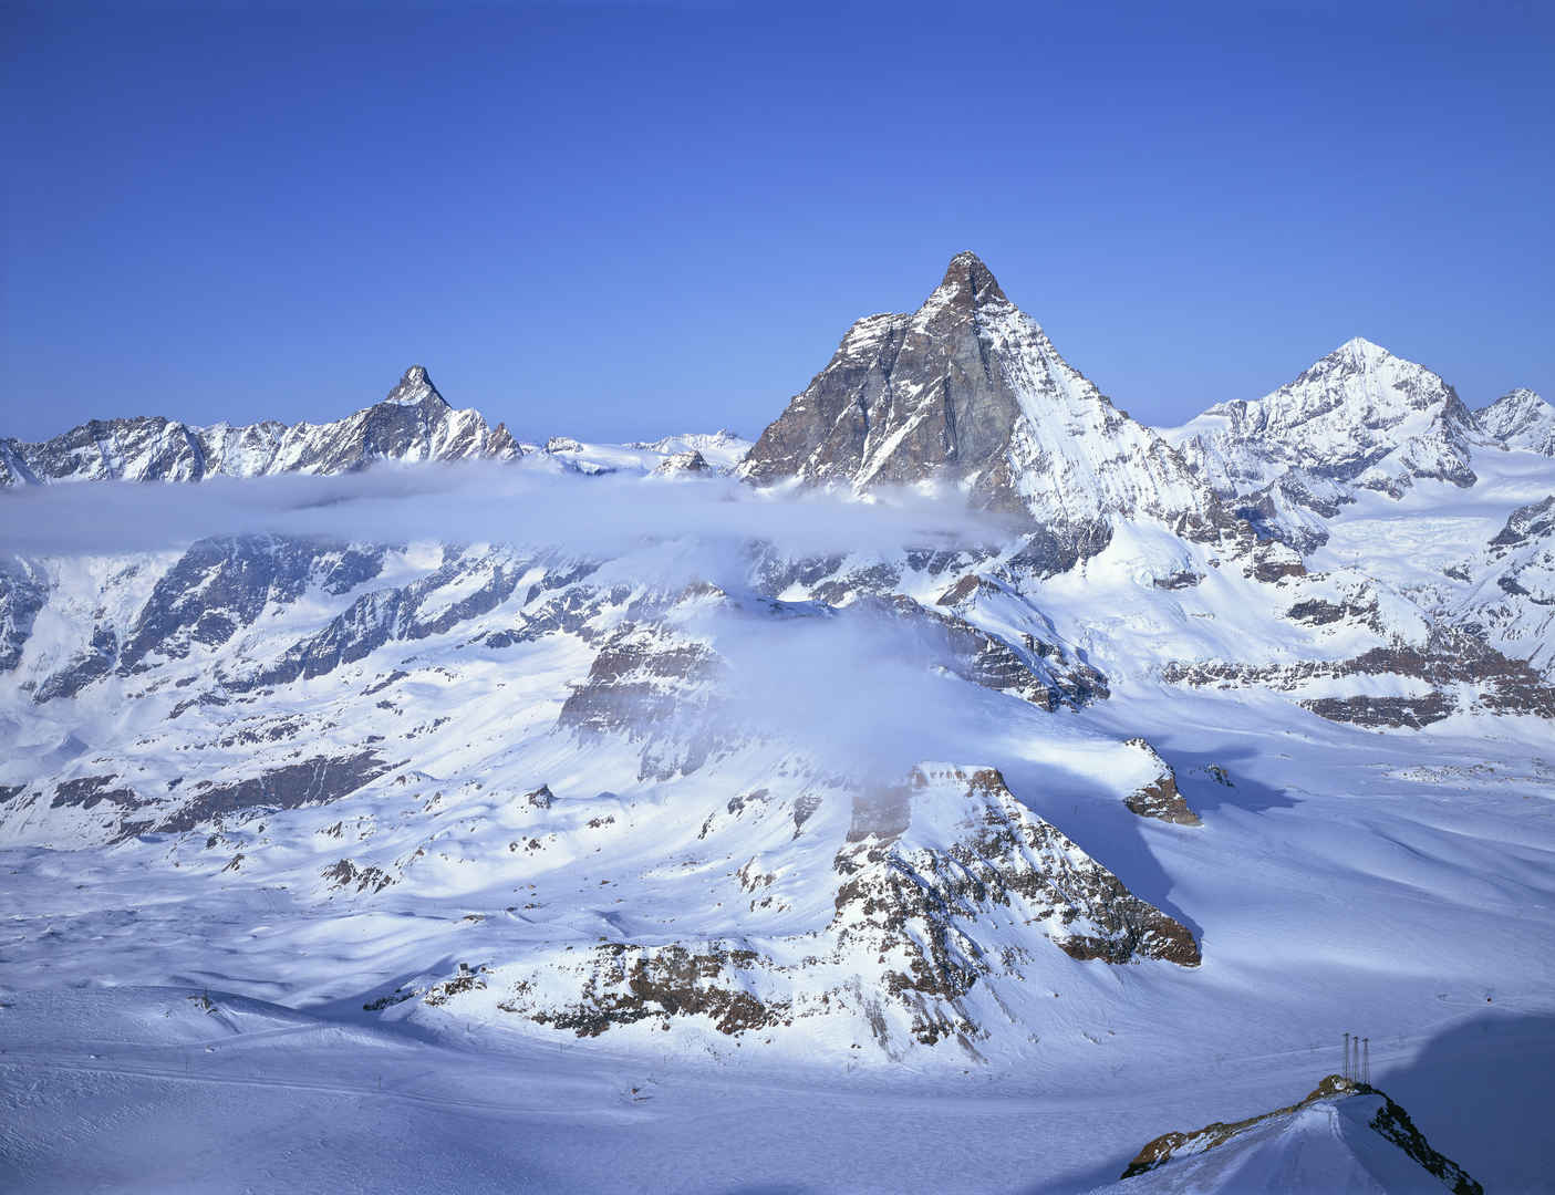
<path fill-rule="evenodd" d="M 253 533 L 557 545 L 599 556 L 664 538 L 760 539 L 785 555 L 815 555 L 964 547 L 1011 531 L 952 496 L 899 491 L 858 500 L 759 491 L 726 477 L 588 477 L 485 462 L 197 485 L 79 482 L 0 494 L 0 550 L 23 555 L 157 552 Z"/>

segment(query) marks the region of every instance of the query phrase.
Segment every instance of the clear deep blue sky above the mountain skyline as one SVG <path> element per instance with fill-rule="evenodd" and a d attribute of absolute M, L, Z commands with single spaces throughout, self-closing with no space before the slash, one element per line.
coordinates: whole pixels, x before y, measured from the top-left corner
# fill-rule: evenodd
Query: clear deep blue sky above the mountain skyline
<path fill-rule="evenodd" d="M 1555 396 L 1552 12 L 5 6 L 0 434 L 750 435 L 961 249 L 1148 421 L 1354 334 Z"/>

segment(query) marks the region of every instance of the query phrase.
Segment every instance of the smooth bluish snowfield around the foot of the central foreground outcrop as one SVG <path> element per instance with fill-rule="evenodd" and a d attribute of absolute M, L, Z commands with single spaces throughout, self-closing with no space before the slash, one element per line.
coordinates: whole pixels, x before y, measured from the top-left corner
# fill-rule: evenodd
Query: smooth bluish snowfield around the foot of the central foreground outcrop
<path fill-rule="evenodd" d="M 6 852 L 0 1186 L 1084 1190 L 1158 1133 L 1300 1097 L 1351 1029 L 1437 1148 L 1488 1190 L 1541 1189 L 1555 833 L 1536 751 L 1270 740 L 1216 701 L 1157 715 L 1171 758 L 1238 771 L 1224 794 L 1185 782 L 1202 833 L 1130 824 L 1079 769 L 1045 766 L 1040 743 L 1009 777 L 1190 917 L 1204 967 L 1098 974 L 1064 960 L 1040 1047 L 977 1066 L 683 1027 L 617 1044 L 480 1019 L 386 1024 L 361 1012 L 367 995 L 434 957 L 499 954 L 535 926 L 462 922 L 490 908 L 476 894 L 341 915 L 274 884 L 179 875 L 137 847 Z M 303 838 L 330 814 L 274 828 Z M 589 887 L 616 890 L 596 883 L 616 873 L 591 864 Z M 620 908 L 583 889 L 569 915 Z M 174 987 L 129 987 L 143 984 Z M 196 1002 L 207 990 L 215 1013 Z M 1188 1189 L 1166 1178 L 1124 1189 Z"/>

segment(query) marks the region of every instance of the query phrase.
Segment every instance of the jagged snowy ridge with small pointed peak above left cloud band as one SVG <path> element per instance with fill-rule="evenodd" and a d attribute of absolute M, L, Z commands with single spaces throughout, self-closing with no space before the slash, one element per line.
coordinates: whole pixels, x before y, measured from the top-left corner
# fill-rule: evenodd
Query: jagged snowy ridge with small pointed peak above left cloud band
<path fill-rule="evenodd" d="M 348 472 L 378 460 L 507 460 L 522 455 L 507 427 L 454 410 L 420 365 L 389 396 L 334 423 L 224 423 L 162 416 L 92 420 L 42 443 L 0 440 L 0 486 L 50 482 L 199 482 L 277 472 Z"/>

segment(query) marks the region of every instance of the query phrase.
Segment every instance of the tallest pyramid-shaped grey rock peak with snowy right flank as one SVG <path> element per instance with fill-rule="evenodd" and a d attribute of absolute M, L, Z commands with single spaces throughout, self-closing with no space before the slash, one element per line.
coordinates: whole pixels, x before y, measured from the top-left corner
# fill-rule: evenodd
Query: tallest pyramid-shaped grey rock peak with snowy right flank
<path fill-rule="evenodd" d="M 911 315 L 858 320 L 740 466 L 757 483 L 936 482 L 1050 528 L 1204 517 L 1213 497 L 1053 348 L 973 253 Z"/>

